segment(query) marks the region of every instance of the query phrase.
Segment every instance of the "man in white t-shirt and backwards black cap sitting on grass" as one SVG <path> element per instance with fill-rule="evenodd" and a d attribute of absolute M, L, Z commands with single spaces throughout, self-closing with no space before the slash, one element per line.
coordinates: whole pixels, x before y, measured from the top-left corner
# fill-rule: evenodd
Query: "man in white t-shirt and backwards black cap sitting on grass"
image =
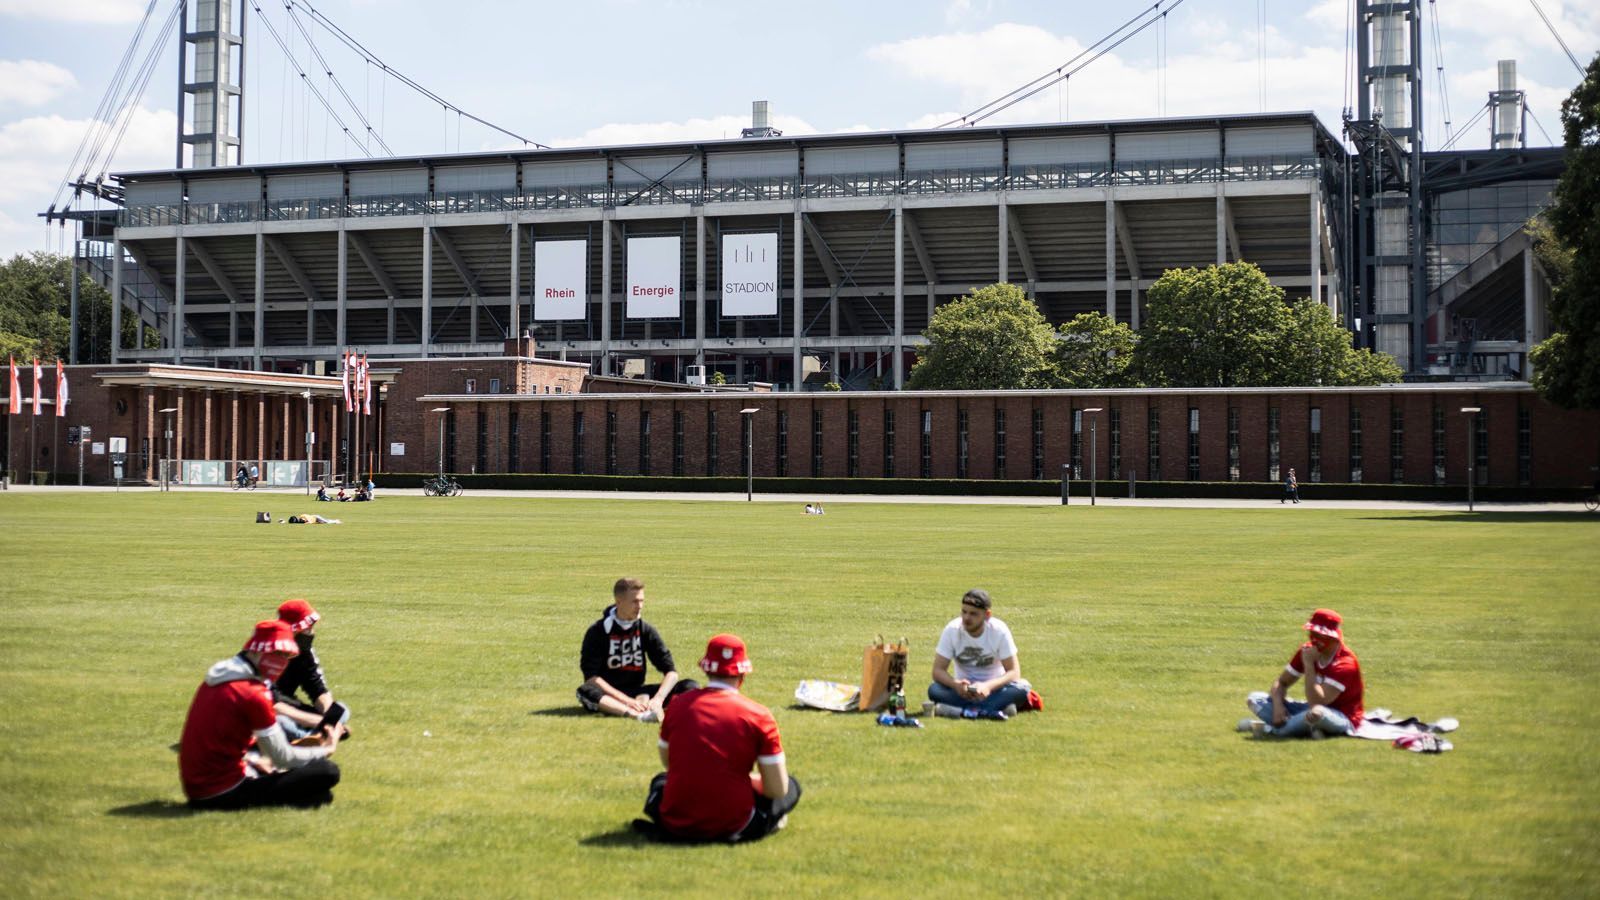
<path fill-rule="evenodd" d="M 989 593 L 973 588 L 962 597 L 962 615 L 950 620 L 933 652 L 933 713 L 966 719 L 1006 719 L 1030 708 L 1032 687 L 1016 661 L 1016 641 L 1006 623 L 994 618 Z M 955 673 L 950 673 L 955 663 Z"/>

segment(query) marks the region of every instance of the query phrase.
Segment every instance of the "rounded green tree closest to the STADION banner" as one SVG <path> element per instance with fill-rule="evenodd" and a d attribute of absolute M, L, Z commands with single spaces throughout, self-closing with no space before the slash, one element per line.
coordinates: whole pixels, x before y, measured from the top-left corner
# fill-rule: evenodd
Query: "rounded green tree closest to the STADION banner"
<path fill-rule="evenodd" d="M 920 391 L 1054 388 L 1054 331 L 1022 288 L 973 288 L 934 311 L 909 386 Z"/>

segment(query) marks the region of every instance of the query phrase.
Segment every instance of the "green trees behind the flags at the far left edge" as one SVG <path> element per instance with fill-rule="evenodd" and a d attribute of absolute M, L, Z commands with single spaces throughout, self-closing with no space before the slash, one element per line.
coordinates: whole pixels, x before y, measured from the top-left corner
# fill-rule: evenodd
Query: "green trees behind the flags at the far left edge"
<path fill-rule="evenodd" d="M 0 356 L 70 359 L 72 259 L 58 253 L 16 255 L 0 263 Z M 138 325 L 122 320 L 123 346 L 133 346 Z M 146 346 L 160 335 L 146 333 Z M 110 291 L 78 274 L 78 362 L 110 360 Z"/>

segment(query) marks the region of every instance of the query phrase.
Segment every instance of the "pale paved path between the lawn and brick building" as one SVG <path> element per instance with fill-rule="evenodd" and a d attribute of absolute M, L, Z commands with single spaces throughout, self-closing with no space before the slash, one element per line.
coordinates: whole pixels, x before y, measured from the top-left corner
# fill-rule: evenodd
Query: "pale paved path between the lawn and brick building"
<path fill-rule="evenodd" d="M 6 495 L 19 493 L 109 493 L 118 490 L 110 485 L 59 485 L 59 487 L 34 487 L 34 485 L 11 485 L 10 490 L 0 493 L 0 501 Z M 122 487 L 123 493 L 155 493 L 154 487 Z M 232 493 L 226 487 L 186 487 L 174 485 L 174 493 Z M 245 493 L 245 492 L 238 492 Z M 378 500 L 389 495 L 382 485 L 378 487 Z M 421 496 L 422 488 L 395 488 L 392 493 L 403 496 Z M 306 496 L 306 488 L 280 488 L 280 487 L 262 487 L 256 488 L 254 495 L 259 496 Z M 448 500 L 470 500 L 474 496 L 522 496 L 522 498 L 576 498 L 576 500 L 670 500 L 677 503 L 698 501 L 698 503 L 744 503 L 744 493 L 694 493 L 694 492 L 646 492 L 646 490 L 474 490 L 467 492 L 459 498 Z M 755 503 L 792 503 L 795 506 L 803 506 L 806 503 L 822 503 L 824 506 L 843 506 L 850 503 L 946 503 L 946 504 L 974 504 L 974 506 L 1061 506 L 1059 496 L 928 496 L 928 495 L 874 495 L 874 493 L 757 493 L 754 496 Z M 1088 506 L 1088 496 L 1072 496 L 1072 506 Z M 1440 501 L 1405 501 L 1405 500 L 1306 500 L 1299 506 L 1272 503 L 1270 500 L 1230 500 L 1230 498 L 1139 498 L 1128 500 L 1126 496 L 1099 496 L 1099 506 L 1107 508 L 1163 508 L 1163 509 L 1282 509 L 1286 514 L 1294 509 L 1397 509 L 1397 511 L 1426 511 L 1426 512 L 1466 512 L 1467 504 L 1462 498 L 1456 503 L 1440 503 Z M 1478 512 L 1584 512 L 1581 503 L 1477 503 L 1474 506 Z M 1597 514 L 1600 520 L 1600 514 Z"/>

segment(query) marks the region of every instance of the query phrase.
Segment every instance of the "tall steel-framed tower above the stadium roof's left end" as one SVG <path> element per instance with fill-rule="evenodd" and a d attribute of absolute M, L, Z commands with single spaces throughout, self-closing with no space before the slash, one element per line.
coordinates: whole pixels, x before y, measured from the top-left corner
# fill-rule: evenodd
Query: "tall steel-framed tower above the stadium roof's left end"
<path fill-rule="evenodd" d="M 194 168 L 238 165 L 245 135 L 245 5 L 179 0 L 179 8 L 178 168 L 184 168 L 184 146 L 192 147 Z"/>

